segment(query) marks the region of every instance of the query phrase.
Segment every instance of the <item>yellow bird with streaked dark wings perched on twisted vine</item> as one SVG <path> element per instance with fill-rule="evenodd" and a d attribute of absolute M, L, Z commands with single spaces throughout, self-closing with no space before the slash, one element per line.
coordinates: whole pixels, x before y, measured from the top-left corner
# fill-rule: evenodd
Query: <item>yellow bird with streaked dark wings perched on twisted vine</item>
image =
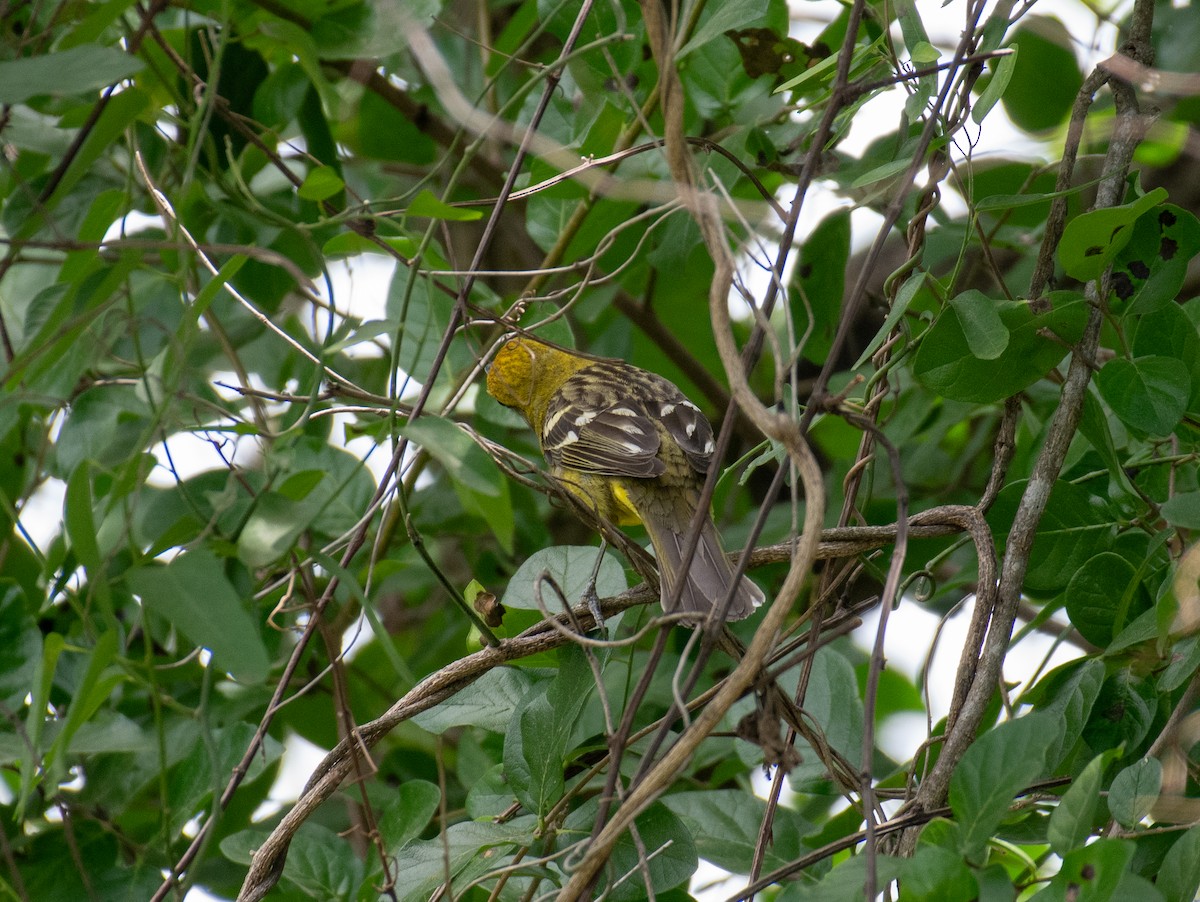
<path fill-rule="evenodd" d="M 623 360 L 512 335 L 488 367 L 487 391 L 529 423 L 563 488 L 610 523 L 646 527 L 666 613 L 695 625 L 725 600 L 734 572 L 710 511 L 683 566 L 715 441 L 673 383 Z M 725 619 L 742 620 L 762 602 L 762 589 L 742 576 Z"/>

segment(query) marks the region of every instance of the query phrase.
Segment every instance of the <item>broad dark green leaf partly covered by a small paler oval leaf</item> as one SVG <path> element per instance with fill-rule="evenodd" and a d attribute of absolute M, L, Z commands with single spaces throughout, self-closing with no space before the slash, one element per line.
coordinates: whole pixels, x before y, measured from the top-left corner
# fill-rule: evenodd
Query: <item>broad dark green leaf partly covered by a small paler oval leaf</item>
<path fill-rule="evenodd" d="M 998 301 L 996 313 L 1008 330 L 1008 343 L 994 359 L 972 350 L 960 317 L 946 311 L 922 338 L 913 375 L 926 389 L 952 401 L 994 403 L 1044 377 L 1082 335 L 1086 302 L 1067 291 L 1054 293 L 1046 309 L 1034 313 L 1024 301 Z M 984 326 L 985 329 L 985 326 Z M 1046 337 L 1046 331 L 1057 339 Z M 985 339 L 976 329 L 976 341 Z M 991 338 L 991 345 L 998 343 Z"/>

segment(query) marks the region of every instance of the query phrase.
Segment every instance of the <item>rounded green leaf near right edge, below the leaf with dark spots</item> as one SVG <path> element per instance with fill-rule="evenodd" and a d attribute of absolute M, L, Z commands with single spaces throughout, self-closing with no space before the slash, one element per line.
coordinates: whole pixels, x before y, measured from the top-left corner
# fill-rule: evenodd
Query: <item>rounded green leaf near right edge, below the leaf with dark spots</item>
<path fill-rule="evenodd" d="M 1175 357 L 1115 357 L 1097 373 L 1096 387 L 1130 428 L 1170 435 L 1188 408 L 1192 372 Z"/>

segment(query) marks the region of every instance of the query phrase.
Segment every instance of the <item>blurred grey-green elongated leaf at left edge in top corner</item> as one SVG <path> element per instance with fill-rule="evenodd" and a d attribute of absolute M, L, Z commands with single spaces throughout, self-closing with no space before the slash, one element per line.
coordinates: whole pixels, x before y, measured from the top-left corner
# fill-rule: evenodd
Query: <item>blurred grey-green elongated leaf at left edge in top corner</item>
<path fill-rule="evenodd" d="M 0 103 L 96 91 L 136 76 L 143 65 L 137 56 L 98 44 L 6 60 L 0 62 Z"/>

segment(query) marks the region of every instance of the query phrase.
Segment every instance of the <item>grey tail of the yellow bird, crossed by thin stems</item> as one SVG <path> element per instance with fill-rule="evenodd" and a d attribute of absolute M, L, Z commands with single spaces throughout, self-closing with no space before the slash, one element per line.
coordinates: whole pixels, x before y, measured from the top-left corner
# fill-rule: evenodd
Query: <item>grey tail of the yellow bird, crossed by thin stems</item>
<path fill-rule="evenodd" d="M 696 614 L 694 623 L 703 620 L 709 611 L 725 600 L 733 582 L 733 566 L 725 557 L 721 539 L 712 518 L 706 518 L 700 530 L 696 551 L 686 572 L 683 572 L 683 559 L 688 551 L 686 527 L 679 533 L 674 522 L 656 521 L 654 517 L 643 517 L 643 522 L 659 565 L 662 609 L 668 614 L 676 611 Z M 686 524 L 686 521 L 684 523 Z M 676 605 L 668 607 L 676 595 L 678 595 Z M 743 576 L 733 593 L 725 619 L 742 620 L 750 617 L 762 601 L 762 589 L 749 577 Z"/>

